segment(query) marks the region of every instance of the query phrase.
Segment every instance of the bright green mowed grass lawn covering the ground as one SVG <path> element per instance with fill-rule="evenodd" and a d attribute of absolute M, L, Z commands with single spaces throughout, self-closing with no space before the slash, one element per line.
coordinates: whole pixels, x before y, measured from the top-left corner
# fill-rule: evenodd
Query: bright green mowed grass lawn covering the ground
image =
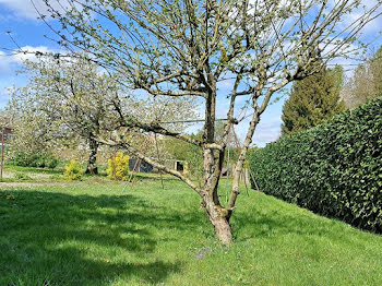
<path fill-rule="evenodd" d="M 252 190 L 226 248 L 183 183 L 122 187 L 0 184 L 0 285 L 382 285 L 382 236 Z"/>

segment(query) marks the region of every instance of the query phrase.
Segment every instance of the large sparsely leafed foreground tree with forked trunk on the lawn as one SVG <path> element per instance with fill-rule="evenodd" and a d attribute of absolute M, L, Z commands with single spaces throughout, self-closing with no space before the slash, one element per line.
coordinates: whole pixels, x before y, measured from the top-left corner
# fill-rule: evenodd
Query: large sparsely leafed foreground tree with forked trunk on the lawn
<path fill-rule="evenodd" d="M 151 95 L 198 97 L 204 105 L 201 140 L 169 130 L 160 122 L 141 122 L 120 109 L 118 129 L 140 129 L 180 139 L 203 153 L 201 184 L 127 147 L 160 170 L 189 184 L 203 200 L 217 237 L 230 243 L 229 219 L 240 193 L 239 178 L 261 115 L 288 83 L 321 70 L 331 59 L 351 56 L 361 28 L 380 15 L 381 1 L 357 0 L 72 0 L 57 10 L 45 0 L 61 29 L 59 43 L 82 49 L 123 84 Z M 357 17 L 350 17 L 357 10 Z M 47 25 L 50 22 L 41 15 Z M 350 21 L 351 20 L 351 21 Z M 232 82 L 227 122 L 215 141 L 217 84 Z M 228 133 L 238 118 L 237 98 L 246 97 L 253 114 L 236 162 L 229 201 L 223 205 L 219 183 Z M 201 187 L 199 187 L 201 186 Z"/>

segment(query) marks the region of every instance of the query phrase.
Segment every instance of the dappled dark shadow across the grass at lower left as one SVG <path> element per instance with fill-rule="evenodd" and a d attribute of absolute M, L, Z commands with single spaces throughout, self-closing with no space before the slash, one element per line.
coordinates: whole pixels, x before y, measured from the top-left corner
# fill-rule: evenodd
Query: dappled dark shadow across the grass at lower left
<path fill-rule="evenodd" d="M 158 212 L 130 194 L 9 193 L 14 199 L 0 191 L 0 284 L 5 285 L 107 285 L 116 278 L 157 284 L 179 272 L 181 262 L 150 255 L 159 239 L 170 239 L 153 233 L 200 224 L 194 214 Z"/>

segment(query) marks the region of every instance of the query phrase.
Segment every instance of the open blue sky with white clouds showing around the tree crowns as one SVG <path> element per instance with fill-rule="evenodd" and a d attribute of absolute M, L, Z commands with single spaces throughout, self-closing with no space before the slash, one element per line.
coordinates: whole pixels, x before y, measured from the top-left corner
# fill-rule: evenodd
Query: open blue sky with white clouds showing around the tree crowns
<path fill-rule="evenodd" d="M 365 2 L 373 2 L 374 0 L 363 0 Z M 41 0 L 34 0 L 38 9 L 44 10 Z M 366 37 L 374 37 L 381 31 L 381 17 L 370 23 L 365 29 Z M 58 47 L 52 40 L 49 40 L 45 35 L 50 35 L 49 28 L 37 20 L 37 13 L 31 3 L 31 0 L 0 0 L 0 47 L 1 48 L 16 48 L 15 44 L 8 35 L 11 32 L 13 39 L 20 47 L 27 47 L 28 50 L 40 51 L 59 51 Z M 374 47 L 381 45 L 381 39 L 374 43 Z M 7 90 L 13 85 L 22 86 L 26 79 L 17 75 L 15 71 L 23 58 L 29 57 L 24 55 L 9 56 L 5 51 L 0 50 L 0 107 L 7 105 L 9 94 Z M 348 63 L 339 60 L 338 63 Z M 224 86 L 222 86 L 224 90 Z M 258 146 L 264 146 L 267 142 L 275 141 L 280 132 L 280 116 L 283 104 L 286 96 L 271 105 L 261 118 L 261 122 L 254 135 L 254 143 Z M 227 109 L 226 104 L 218 105 L 217 115 L 225 117 Z M 244 124 L 237 127 L 237 132 L 242 139 L 244 136 Z"/>

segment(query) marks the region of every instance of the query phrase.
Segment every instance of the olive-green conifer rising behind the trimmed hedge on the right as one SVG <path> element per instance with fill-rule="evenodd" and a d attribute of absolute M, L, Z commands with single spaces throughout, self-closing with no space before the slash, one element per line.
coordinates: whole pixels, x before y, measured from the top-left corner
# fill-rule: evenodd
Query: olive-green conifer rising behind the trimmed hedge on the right
<path fill-rule="evenodd" d="M 290 134 L 315 127 L 345 110 L 339 99 L 343 69 L 323 69 L 293 85 L 283 108 L 282 133 Z"/>

